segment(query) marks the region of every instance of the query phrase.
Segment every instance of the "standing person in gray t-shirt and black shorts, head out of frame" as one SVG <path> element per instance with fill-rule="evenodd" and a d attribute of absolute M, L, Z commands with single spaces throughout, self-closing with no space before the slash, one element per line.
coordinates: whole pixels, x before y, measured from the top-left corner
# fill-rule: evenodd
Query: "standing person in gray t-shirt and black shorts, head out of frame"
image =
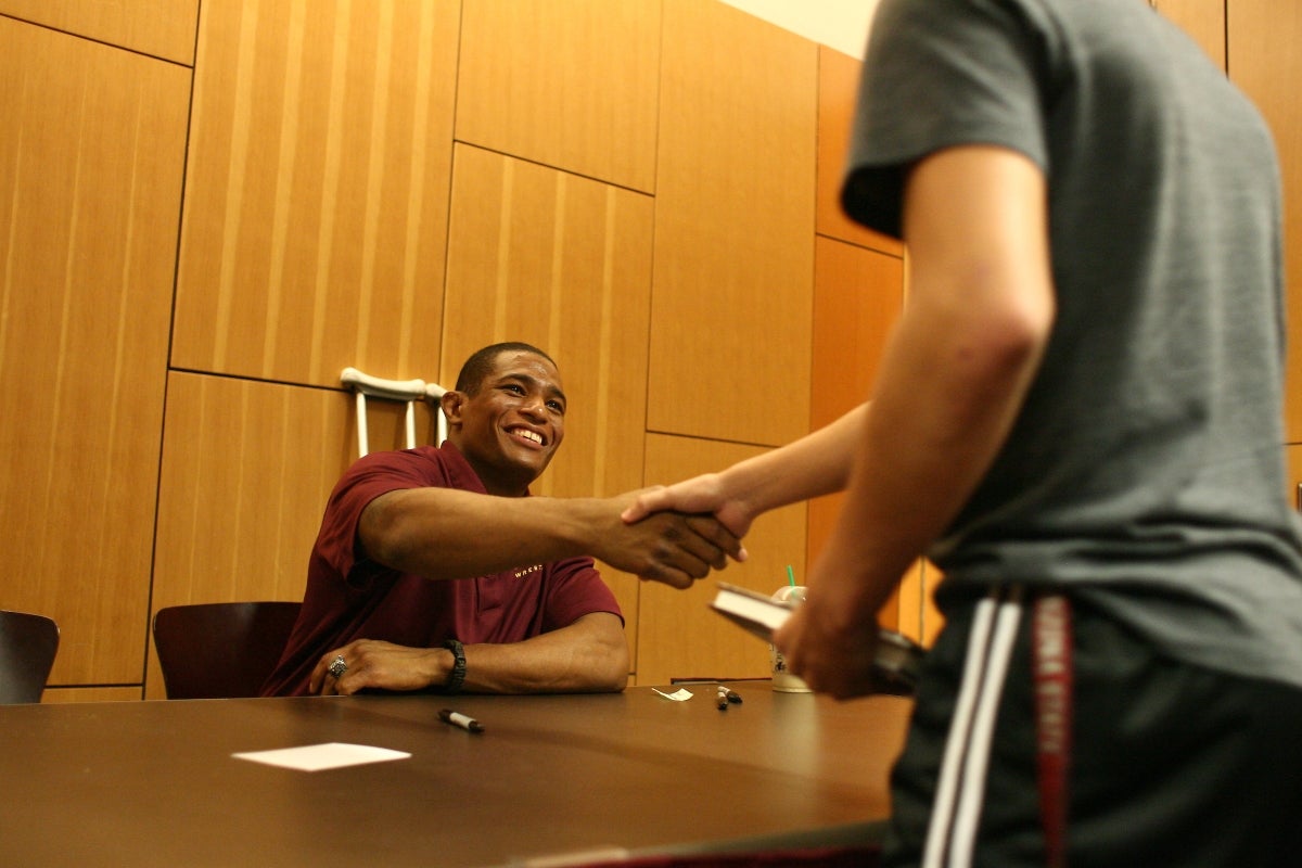
<path fill-rule="evenodd" d="M 846 211 L 904 238 L 871 405 L 646 495 L 848 488 L 776 636 L 871 692 L 907 565 L 945 616 L 887 865 L 1295 865 L 1302 541 L 1282 497 L 1280 180 L 1144 0 L 883 0 Z"/>

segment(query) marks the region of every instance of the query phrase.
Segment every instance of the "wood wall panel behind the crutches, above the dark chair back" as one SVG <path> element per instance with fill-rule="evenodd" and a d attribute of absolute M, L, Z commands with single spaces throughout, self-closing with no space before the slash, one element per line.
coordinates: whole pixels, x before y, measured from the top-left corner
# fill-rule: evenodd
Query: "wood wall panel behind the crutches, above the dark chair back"
<path fill-rule="evenodd" d="M 404 445 L 401 405 L 370 407 L 371 449 Z M 428 442 L 431 416 L 419 419 L 418 439 Z M 173 373 L 152 612 L 189 603 L 302 600 L 326 500 L 355 457 L 349 394 Z M 146 696 L 164 695 L 151 653 Z"/>

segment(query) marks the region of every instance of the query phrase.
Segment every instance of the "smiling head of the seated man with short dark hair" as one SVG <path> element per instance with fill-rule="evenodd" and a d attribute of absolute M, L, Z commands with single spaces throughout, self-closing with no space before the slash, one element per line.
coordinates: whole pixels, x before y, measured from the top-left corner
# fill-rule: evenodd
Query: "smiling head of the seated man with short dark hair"
<path fill-rule="evenodd" d="M 522 496 L 565 439 L 565 392 L 546 357 L 506 350 L 478 387 L 443 396 L 448 440 L 490 495 Z"/>

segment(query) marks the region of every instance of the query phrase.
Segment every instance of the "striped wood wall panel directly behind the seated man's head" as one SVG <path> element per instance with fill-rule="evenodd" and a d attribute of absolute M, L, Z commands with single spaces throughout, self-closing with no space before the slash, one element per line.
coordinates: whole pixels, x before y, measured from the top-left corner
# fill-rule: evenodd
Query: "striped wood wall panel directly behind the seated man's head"
<path fill-rule="evenodd" d="M 458 144 L 441 383 L 466 357 L 521 340 L 560 367 L 565 444 L 534 493 L 612 496 L 642 484 L 652 202 Z M 603 567 L 637 627 L 637 582 Z"/>

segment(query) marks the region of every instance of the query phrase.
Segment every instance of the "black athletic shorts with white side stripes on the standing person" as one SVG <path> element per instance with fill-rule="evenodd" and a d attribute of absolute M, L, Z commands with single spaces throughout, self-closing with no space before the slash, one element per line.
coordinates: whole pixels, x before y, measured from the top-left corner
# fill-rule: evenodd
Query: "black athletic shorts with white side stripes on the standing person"
<path fill-rule="evenodd" d="M 1048 864 L 1031 599 L 999 593 L 928 657 L 883 865 Z M 1302 865 L 1302 690 L 1170 660 L 1078 601 L 1070 623 L 1065 864 Z"/>

